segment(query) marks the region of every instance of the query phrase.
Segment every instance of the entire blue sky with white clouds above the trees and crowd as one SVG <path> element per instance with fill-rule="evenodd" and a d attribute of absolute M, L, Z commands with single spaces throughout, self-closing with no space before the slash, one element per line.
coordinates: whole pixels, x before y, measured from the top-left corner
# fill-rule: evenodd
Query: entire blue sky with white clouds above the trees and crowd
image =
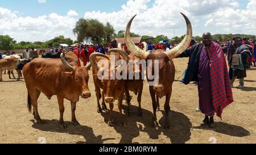
<path fill-rule="evenodd" d="M 39 3 L 45 1 L 45 3 Z M 256 35 L 256 0 L 0 0 L 0 34 L 17 41 L 45 41 L 72 30 L 79 18 L 109 22 L 115 32 L 124 30 L 134 14 L 131 31 L 139 35 L 174 37 L 185 33 L 179 12 L 191 20 L 193 35 L 205 31 Z"/>

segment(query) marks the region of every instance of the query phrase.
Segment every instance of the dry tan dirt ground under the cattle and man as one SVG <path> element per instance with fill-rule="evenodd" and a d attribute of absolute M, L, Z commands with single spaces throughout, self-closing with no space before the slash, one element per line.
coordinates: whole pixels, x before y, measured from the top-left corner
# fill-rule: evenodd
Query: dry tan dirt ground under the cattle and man
<path fill-rule="evenodd" d="M 176 79 L 187 66 L 188 59 L 175 59 Z M 90 72 L 92 74 L 92 72 Z M 17 76 L 17 75 L 15 75 Z M 47 83 L 46 83 L 47 85 Z M 236 81 L 235 86 L 238 85 Z M 223 120 L 215 118 L 216 128 L 200 127 L 204 115 L 196 112 L 198 106 L 197 86 L 174 82 L 171 98 L 171 128 L 162 127 L 163 111 L 158 112 L 159 127 L 151 128 L 152 103 L 147 82 L 142 95 L 143 117 L 137 116 L 137 97 L 131 93 L 131 116 L 125 115 L 126 126 L 118 123 L 119 113 L 115 102 L 114 127 L 106 123 L 109 112 L 97 113 L 92 76 L 89 88 L 90 99 L 80 99 L 76 117 L 81 126 L 73 126 L 71 106 L 65 100 L 64 121 L 68 128 L 60 128 L 59 107 L 56 97 L 48 100 L 43 94 L 39 98 L 39 114 L 46 124 L 34 123 L 27 110 L 27 90 L 22 81 L 16 82 L 3 75 L 0 82 L 0 143 L 256 143 L 256 68 L 247 71 L 244 89 L 233 89 L 235 102 L 223 114 Z M 165 98 L 160 100 L 163 110 Z M 125 101 L 124 101 L 125 102 Z M 123 102 L 123 103 L 124 103 Z M 123 106 L 126 107 L 125 104 Z M 43 137 L 43 138 L 42 138 Z"/>

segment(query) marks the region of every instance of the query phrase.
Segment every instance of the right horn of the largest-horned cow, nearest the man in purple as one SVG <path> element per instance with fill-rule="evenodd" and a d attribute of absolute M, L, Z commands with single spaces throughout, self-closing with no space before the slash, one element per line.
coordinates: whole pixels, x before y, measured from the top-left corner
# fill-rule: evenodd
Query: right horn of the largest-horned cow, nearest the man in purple
<path fill-rule="evenodd" d="M 170 60 L 172 60 L 173 58 L 181 55 L 181 53 L 183 53 L 185 51 L 185 49 L 188 48 L 188 45 L 191 43 L 191 39 L 192 39 L 191 22 L 189 21 L 187 16 L 185 16 L 183 13 L 180 12 L 180 14 L 183 15 L 185 20 L 186 20 L 187 34 L 179 45 L 177 45 L 175 48 L 171 49 L 170 51 L 165 52 L 168 55 L 168 57 L 170 58 Z"/>

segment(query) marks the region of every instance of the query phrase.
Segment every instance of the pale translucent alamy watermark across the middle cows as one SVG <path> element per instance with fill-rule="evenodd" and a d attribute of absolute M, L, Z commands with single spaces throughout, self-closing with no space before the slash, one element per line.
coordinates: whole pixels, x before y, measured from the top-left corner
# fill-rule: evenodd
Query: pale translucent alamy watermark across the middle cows
<path fill-rule="evenodd" d="M 159 82 L 159 60 L 117 60 L 114 55 L 110 61 L 102 59 L 97 62 L 98 79 L 148 79 L 150 86 Z"/>

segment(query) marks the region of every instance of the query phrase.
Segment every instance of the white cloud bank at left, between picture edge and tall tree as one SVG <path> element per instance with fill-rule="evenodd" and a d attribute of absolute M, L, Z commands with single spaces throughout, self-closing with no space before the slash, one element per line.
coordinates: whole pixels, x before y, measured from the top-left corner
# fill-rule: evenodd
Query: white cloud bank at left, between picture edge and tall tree
<path fill-rule="evenodd" d="M 22 17 L 13 14 L 8 9 L 0 8 L 0 23 L 5 23 L 0 24 L 0 33 L 10 35 L 16 41 L 46 41 L 60 35 L 75 39 L 72 30 L 77 20 L 56 13 L 37 18 Z"/>

